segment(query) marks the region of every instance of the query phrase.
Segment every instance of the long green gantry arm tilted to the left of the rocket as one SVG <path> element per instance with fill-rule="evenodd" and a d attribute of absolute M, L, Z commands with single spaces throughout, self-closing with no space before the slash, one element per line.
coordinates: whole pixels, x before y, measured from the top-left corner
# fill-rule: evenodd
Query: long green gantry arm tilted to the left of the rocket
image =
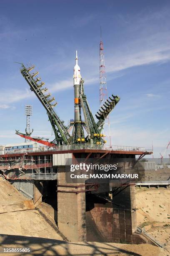
<path fill-rule="evenodd" d="M 39 72 L 30 74 L 30 71 L 34 69 L 35 66 L 29 67 L 29 68 L 26 68 L 24 64 L 21 64 L 21 66 L 22 66 L 20 70 L 21 74 L 30 85 L 30 90 L 35 93 L 35 95 L 37 96 L 37 98 L 40 100 L 40 102 L 42 103 L 42 105 L 47 111 L 47 115 L 49 117 L 50 123 L 52 125 L 52 129 L 55 134 L 54 142 L 56 144 L 69 145 L 71 136 L 67 131 L 67 127 L 64 125 L 64 121 L 60 120 L 58 115 L 53 110 L 53 107 L 55 107 L 57 103 L 51 104 L 51 102 L 54 101 L 55 98 L 54 97 L 50 98 L 51 96 L 50 93 L 48 93 L 47 95 L 44 94 L 44 92 L 47 91 L 47 88 L 41 89 L 41 87 L 45 83 L 41 82 L 40 77 L 37 77 L 37 74 Z"/>

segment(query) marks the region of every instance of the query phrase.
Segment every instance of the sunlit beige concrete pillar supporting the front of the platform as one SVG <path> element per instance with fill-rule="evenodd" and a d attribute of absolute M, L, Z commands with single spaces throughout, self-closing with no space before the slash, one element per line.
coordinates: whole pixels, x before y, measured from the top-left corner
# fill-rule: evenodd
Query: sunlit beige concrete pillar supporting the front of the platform
<path fill-rule="evenodd" d="M 68 185 L 81 184 L 67 183 L 65 166 L 60 166 L 57 169 L 58 228 L 69 241 L 86 241 L 85 192 L 75 193 L 85 190 L 85 187 L 66 187 Z"/>

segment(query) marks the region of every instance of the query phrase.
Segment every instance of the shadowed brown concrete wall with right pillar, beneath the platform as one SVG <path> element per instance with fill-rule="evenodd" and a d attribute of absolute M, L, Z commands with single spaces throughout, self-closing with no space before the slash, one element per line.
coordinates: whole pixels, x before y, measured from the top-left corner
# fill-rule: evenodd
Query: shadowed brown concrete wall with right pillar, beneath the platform
<path fill-rule="evenodd" d="M 135 205 L 135 186 L 122 188 L 122 191 L 113 197 L 115 203 L 95 203 L 91 210 L 92 217 L 108 242 L 135 243 L 133 235 L 137 229 Z M 141 238 L 138 236 L 138 240 Z"/>

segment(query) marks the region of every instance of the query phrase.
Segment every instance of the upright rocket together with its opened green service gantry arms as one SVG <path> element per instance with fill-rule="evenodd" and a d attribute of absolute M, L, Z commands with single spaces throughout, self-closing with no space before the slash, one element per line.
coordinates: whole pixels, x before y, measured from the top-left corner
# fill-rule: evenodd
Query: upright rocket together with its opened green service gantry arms
<path fill-rule="evenodd" d="M 109 97 L 109 100 L 107 99 L 102 102 L 100 110 L 95 115 L 97 118 L 96 122 L 84 93 L 84 79 L 82 79 L 80 74 L 77 51 L 75 60 L 76 64 L 73 75 L 75 119 L 71 120 L 68 126 L 64 124 L 64 121 L 59 118 L 53 109 L 57 105 L 57 102 L 54 104 L 52 103 L 55 100 L 55 97 L 51 97 L 51 93 L 47 93 L 48 89 L 43 87 L 45 82 L 42 82 L 41 78 L 37 76 L 39 72 L 31 73 L 35 66 L 25 67 L 24 64 L 21 64 L 20 72 L 28 82 L 30 90 L 35 93 L 47 111 L 48 118 L 55 134 L 55 139 L 52 141 L 53 145 L 75 145 L 87 143 L 102 146 L 106 143 L 105 136 L 102 133 L 105 119 L 112 109 L 115 108 L 120 97 L 112 95 L 112 97 Z M 84 121 L 82 120 L 81 110 L 85 119 Z M 72 135 L 69 133 L 71 127 L 73 128 Z M 22 135 L 23 133 L 17 132 L 17 134 Z"/>

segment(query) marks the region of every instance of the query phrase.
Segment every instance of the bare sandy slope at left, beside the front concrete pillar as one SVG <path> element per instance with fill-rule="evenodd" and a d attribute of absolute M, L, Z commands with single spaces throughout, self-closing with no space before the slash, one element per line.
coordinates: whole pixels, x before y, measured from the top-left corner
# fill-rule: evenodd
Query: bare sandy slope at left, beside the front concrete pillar
<path fill-rule="evenodd" d="M 0 181 L 0 206 L 3 205 L 9 211 L 9 205 L 20 206 L 28 200 L 7 181 Z M 13 207 L 11 206 L 11 210 Z M 1 207 L 2 208 L 2 207 Z M 0 214 L 0 233 L 18 236 L 32 236 L 62 240 L 49 223 L 37 210 L 25 210 L 16 207 L 16 211 Z"/>

